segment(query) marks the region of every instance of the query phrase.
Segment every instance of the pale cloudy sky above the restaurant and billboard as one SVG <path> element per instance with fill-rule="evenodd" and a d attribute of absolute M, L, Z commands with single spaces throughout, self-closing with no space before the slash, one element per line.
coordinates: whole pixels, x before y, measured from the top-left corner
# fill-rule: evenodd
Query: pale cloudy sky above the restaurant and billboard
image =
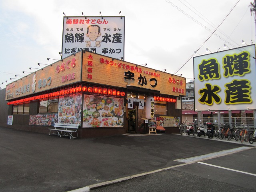
<path fill-rule="evenodd" d="M 255 44 L 250 0 L 210 2 L 0 0 L 0 88 L 27 75 L 22 71 L 30 72 L 29 67 L 40 68 L 37 63 L 50 64 L 47 58 L 60 59 L 63 12 L 66 16 L 82 16 L 82 12 L 85 16 L 125 16 L 124 60 L 182 74 L 188 82 L 194 78 L 194 56 L 238 48 L 244 46 L 242 40 Z"/>

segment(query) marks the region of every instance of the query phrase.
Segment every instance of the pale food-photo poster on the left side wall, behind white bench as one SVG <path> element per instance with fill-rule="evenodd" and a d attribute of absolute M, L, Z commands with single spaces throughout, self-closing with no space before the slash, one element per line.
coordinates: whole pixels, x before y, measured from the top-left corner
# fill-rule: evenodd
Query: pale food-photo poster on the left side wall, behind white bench
<path fill-rule="evenodd" d="M 82 94 L 70 94 L 59 97 L 58 123 L 80 124 L 82 112 Z"/>

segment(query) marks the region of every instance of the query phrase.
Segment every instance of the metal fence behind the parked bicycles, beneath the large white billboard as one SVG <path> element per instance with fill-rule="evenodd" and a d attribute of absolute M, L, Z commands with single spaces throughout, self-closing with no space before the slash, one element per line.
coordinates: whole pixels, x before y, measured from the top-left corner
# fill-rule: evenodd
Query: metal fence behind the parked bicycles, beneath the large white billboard
<path fill-rule="evenodd" d="M 189 122 L 194 122 L 194 120 L 201 120 L 202 123 L 204 122 L 214 122 L 215 120 L 218 122 L 218 118 L 216 117 L 204 117 L 204 118 L 182 118 L 182 121 L 186 121 L 187 123 Z M 254 119 L 251 117 L 232 117 L 232 124 L 234 125 L 235 128 L 240 127 L 241 125 L 248 126 L 249 128 L 254 128 Z M 217 124 L 225 124 L 228 123 L 228 117 L 220 118 L 220 122 Z"/>

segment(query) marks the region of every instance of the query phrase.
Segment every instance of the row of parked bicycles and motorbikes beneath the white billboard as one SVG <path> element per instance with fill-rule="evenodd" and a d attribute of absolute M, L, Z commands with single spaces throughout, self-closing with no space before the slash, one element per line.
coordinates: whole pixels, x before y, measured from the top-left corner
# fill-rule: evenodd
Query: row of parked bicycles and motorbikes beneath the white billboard
<path fill-rule="evenodd" d="M 214 122 L 201 122 L 201 120 L 195 119 L 194 122 L 187 124 L 187 120 L 180 124 L 180 134 L 188 134 L 193 136 L 208 136 L 208 138 L 219 138 L 228 140 L 235 139 L 241 142 L 250 142 L 253 144 L 256 140 L 256 129 L 245 126 L 244 124 L 232 123 L 218 124 Z"/>

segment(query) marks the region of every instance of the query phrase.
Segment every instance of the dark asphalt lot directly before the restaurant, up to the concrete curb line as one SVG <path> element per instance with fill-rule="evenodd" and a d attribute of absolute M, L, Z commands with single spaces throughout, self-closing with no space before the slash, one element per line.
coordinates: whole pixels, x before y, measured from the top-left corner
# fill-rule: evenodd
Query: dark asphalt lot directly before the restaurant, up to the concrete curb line
<path fill-rule="evenodd" d="M 182 164 L 177 159 L 248 146 L 178 134 L 68 139 L 0 131 L 3 192 L 71 191 Z"/>

